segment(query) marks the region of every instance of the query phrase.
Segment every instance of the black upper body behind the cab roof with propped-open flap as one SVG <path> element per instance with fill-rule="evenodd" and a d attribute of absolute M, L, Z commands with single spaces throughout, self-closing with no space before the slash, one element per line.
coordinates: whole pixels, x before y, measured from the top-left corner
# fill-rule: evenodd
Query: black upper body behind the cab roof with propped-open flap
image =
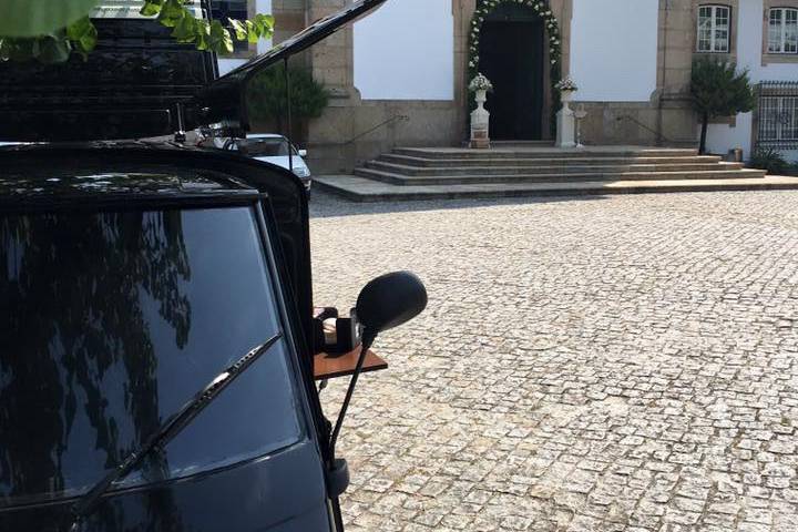
<path fill-rule="evenodd" d="M 214 53 L 177 44 L 155 20 L 94 19 L 98 47 L 85 61 L 0 62 L 0 141 L 144 139 L 218 122 L 244 136 L 252 76 L 385 1 L 355 2 L 222 78 Z"/>

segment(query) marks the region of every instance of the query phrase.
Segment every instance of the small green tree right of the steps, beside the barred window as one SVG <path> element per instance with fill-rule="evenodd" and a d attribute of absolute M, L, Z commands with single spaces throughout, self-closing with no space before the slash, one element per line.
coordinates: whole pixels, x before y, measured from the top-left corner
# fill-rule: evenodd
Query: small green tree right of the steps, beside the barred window
<path fill-rule="evenodd" d="M 734 62 L 709 58 L 693 62 L 690 94 L 702 121 L 700 153 L 706 152 L 709 119 L 747 113 L 756 104 L 748 71 L 737 72 Z"/>

